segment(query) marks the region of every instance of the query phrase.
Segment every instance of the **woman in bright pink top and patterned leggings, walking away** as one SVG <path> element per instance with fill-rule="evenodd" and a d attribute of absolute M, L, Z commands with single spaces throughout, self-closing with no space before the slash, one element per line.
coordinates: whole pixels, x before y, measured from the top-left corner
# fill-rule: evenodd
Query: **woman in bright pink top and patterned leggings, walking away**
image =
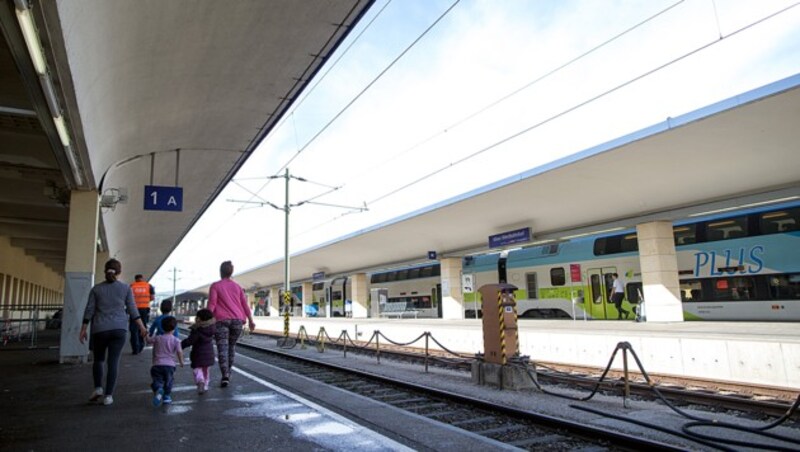
<path fill-rule="evenodd" d="M 236 354 L 236 341 L 242 335 L 245 320 L 249 321 L 250 331 L 256 327 L 253 314 L 247 305 L 247 297 L 241 286 L 231 279 L 233 264 L 225 261 L 219 266 L 220 280 L 211 285 L 208 291 L 208 309 L 214 313 L 217 343 L 217 359 L 222 372 L 220 386 L 225 388 L 231 381 L 233 357 Z"/>

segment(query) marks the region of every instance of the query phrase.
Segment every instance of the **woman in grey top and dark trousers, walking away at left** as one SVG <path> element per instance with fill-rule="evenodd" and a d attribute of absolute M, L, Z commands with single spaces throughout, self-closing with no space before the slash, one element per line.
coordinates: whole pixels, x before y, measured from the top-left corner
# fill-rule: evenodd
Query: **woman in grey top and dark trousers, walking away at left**
<path fill-rule="evenodd" d="M 83 326 L 79 336 L 82 344 L 86 340 L 86 330 L 91 322 L 94 392 L 89 401 L 97 402 L 102 398 L 103 405 L 114 403 L 112 394 L 117 383 L 119 358 L 122 355 L 122 348 L 125 346 L 125 336 L 130 320 L 135 321 L 139 326 L 142 337 L 147 337 L 147 329 L 139 318 L 139 310 L 136 309 L 136 303 L 133 301 L 131 287 L 117 281 L 120 273 L 122 273 L 122 264 L 118 260 L 110 259 L 106 262 L 106 280 L 92 287 L 89 292 L 89 302 L 83 313 Z M 105 391 L 103 391 L 104 362 L 107 363 L 108 374 Z"/>

